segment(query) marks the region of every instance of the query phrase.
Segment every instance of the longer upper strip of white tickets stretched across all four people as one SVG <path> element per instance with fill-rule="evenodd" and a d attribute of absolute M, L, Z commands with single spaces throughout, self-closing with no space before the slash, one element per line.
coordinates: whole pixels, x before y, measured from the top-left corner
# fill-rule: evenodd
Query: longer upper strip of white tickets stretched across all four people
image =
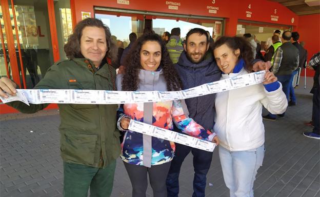
<path fill-rule="evenodd" d="M 3 103 L 21 101 L 25 104 L 125 104 L 146 103 L 190 99 L 251 86 L 264 81 L 265 71 L 239 75 L 226 80 L 203 84 L 181 91 L 110 91 L 110 90 L 73 90 L 73 89 L 17 89 L 16 96 L 5 99 Z"/>

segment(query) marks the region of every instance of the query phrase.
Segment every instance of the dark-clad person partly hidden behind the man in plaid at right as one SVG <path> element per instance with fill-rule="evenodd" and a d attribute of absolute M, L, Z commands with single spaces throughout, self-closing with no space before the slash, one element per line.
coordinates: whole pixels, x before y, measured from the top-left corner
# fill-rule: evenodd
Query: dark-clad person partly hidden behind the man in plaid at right
<path fill-rule="evenodd" d="M 294 70 L 292 72 L 292 76 L 290 79 L 290 89 L 289 89 L 289 97 L 290 97 L 290 101 L 289 101 L 289 106 L 295 106 L 296 105 L 296 97 L 294 94 L 294 88 L 292 86 L 293 83 L 293 78 L 295 77 L 295 75 L 300 74 L 299 70 L 301 71 L 301 69 L 303 67 L 305 67 L 306 61 L 307 61 L 307 50 L 304 49 L 299 43 L 299 33 L 298 32 L 292 32 L 292 37 L 291 37 L 291 43 L 299 50 L 299 67 Z"/>

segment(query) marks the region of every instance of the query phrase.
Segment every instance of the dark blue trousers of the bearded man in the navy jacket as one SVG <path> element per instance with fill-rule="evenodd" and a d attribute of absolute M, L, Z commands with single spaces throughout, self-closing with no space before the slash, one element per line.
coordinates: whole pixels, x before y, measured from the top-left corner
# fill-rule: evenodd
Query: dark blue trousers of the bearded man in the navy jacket
<path fill-rule="evenodd" d="M 209 171 L 212 152 L 192 148 L 189 146 L 175 144 L 175 155 L 171 161 L 167 176 L 168 197 L 177 197 L 179 193 L 179 173 L 183 161 L 190 153 L 193 154 L 193 194 L 192 197 L 205 197 L 207 173 Z"/>

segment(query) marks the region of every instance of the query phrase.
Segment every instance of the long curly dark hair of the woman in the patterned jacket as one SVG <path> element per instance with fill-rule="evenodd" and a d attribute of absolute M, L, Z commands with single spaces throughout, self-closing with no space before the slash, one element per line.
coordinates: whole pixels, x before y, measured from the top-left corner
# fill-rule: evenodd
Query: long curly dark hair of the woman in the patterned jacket
<path fill-rule="evenodd" d="M 163 69 L 165 81 L 168 91 L 181 90 L 181 79 L 174 69 L 172 61 L 170 60 L 169 53 L 166 44 L 162 41 L 161 36 L 155 33 L 146 33 L 139 37 L 132 48 L 127 58 L 126 69 L 122 80 L 122 90 L 135 91 L 138 89 L 139 84 L 139 70 L 142 69 L 140 64 L 140 51 L 142 46 L 147 41 L 155 41 L 161 46 L 161 63 L 160 66 Z"/>

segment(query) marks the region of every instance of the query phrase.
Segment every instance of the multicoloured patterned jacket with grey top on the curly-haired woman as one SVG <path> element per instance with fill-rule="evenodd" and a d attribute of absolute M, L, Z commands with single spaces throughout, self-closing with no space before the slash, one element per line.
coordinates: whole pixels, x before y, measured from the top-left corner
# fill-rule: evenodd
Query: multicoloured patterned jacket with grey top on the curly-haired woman
<path fill-rule="evenodd" d="M 121 90 L 122 74 L 116 78 L 117 89 Z M 166 83 L 163 71 L 141 70 L 139 73 L 140 83 L 137 91 L 166 91 Z M 184 101 L 168 101 L 153 103 L 152 125 L 173 130 L 173 122 L 183 132 L 203 140 L 212 141 L 215 133 L 205 130 L 188 117 L 188 110 Z M 129 164 L 143 165 L 143 134 L 124 130 L 120 122 L 123 117 L 129 117 L 143 122 L 144 104 L 124 104 L 118 109 L 118 128 L 125 132 L 122 143 L 121 159 Z M 151 165 L 159 165 L 170 162 L 173 158 L 175 145 L 173 142 L 152 137 L 152 160 Z"/>

